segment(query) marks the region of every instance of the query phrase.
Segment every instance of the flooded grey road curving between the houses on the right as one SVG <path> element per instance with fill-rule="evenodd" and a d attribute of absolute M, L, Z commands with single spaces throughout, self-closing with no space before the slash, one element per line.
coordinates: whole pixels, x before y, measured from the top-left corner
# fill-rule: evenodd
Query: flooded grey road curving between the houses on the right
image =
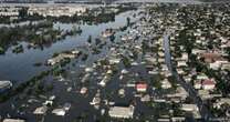
<path fill-rule="evenodd" d="M 171 74 L 176 77 L 178 83 L 189 93 L 189 95 L 194 99 L 194 102 L 198 105 L 201 118 L 203 121 L 210 121 L 211 113 L 203 104 L 201 98 L 197 94 L 197 91 L 190 83 L 186 83 L 185 79 L 178 74 L 176 68 L 171 64 L 171 53 L 170 53 L 170 45 L 169 45 L 169 35 L 170 31 L 165 32 L 164 34 L 164 48 L 165 48 L 165 59 L 168 70 L 170 70 Z"/>

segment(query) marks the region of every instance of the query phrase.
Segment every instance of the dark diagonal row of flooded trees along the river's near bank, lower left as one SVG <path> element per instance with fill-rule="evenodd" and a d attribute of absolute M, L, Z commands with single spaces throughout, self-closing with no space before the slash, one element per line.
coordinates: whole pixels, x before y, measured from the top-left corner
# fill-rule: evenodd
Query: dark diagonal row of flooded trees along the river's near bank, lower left
<path fill-rule="evenodd" d="M 43 71 L 40 74 L 33 77 L 32 79 L 30 79 L 23 83 L 20 83 L 19 85 L 13 88 L 9 92 L 0 94 L 0 102 L 4 102 L 8 99 L 10 99 L 11 96 L 20 94 L 22 92 L 25 92 L 28 94 L 31 94 L 32 92 L 34 92 L 36 95 L 39 95 L 39 94 L 45 93 L 48 91 L 51 91 L 53 89 L 53 85 L 52 84 L 49 84 L 49 85 L 44 84 L 43 79 L 50 74 L 54 75 L 54 77 L 66 75 L 64 67 L 66 67 L 66 64 L 70 62 L 71 62 L 71 59 L 65 58 L 61 61 L 61 63 L 59 65 L 55 65 L 50 70 Z M 41 64 L 42 63 L 35 63 L 34 65 L 41 65 Z M 31 90 L 32 88 L 33 88 L 33 90 Z"/>

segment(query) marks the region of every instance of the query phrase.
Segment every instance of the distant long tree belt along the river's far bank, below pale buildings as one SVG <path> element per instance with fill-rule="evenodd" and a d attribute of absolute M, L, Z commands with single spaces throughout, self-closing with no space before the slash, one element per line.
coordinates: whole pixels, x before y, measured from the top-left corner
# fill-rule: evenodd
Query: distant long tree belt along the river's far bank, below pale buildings
<path fill-rule="evenodd" d="M 62 17 L 42 17 L 36 13 L 28 14 L 27 7 L 22 7 L 19 11 L 19 18 L 11 20 L 10 17 L 0 17 L 0 23 L 11 23 L 11 22 L 21 22 L 21 21 L 35 21 L 35 20 L 49 20 L 49 21 L 60 21 L 65 23 L 73 22 L 85 22 L 88 24 L 98 24 L 105 23 L 115 20 L 115 16 L 128 10 L 136 10 L 137 8 L 130 6 L 119 6 L 119 7 L 106 7 L 106 8 L 94 8 L 92 10 L 86 10 L 85 13 L 79 16 L 74 14 L 73 17 L 62 16 Z M 113 11 L 117 9 L 117 11 Z"/>

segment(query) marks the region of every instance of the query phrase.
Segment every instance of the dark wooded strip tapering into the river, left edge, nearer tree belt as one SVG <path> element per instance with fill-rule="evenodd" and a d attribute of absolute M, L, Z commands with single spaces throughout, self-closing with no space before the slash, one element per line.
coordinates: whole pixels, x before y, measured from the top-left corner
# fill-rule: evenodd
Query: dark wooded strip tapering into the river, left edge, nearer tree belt
<path fill-rule="evenodd" d="M 66 35 L 82 33 L 81 28 L 74 28 L 69 31 L 53 29 L 53 22 L 45 21 L 38 24 L 17 26 L 14 28 L 0 28 L 0 54 L 11 45 L 17 45 L 21 41 L 30 43 L 30 47 L 43 47 L 64 39 Z M 13 49 L 14 53 L 23 52 L 22 45 L 17 45 Z"/>

